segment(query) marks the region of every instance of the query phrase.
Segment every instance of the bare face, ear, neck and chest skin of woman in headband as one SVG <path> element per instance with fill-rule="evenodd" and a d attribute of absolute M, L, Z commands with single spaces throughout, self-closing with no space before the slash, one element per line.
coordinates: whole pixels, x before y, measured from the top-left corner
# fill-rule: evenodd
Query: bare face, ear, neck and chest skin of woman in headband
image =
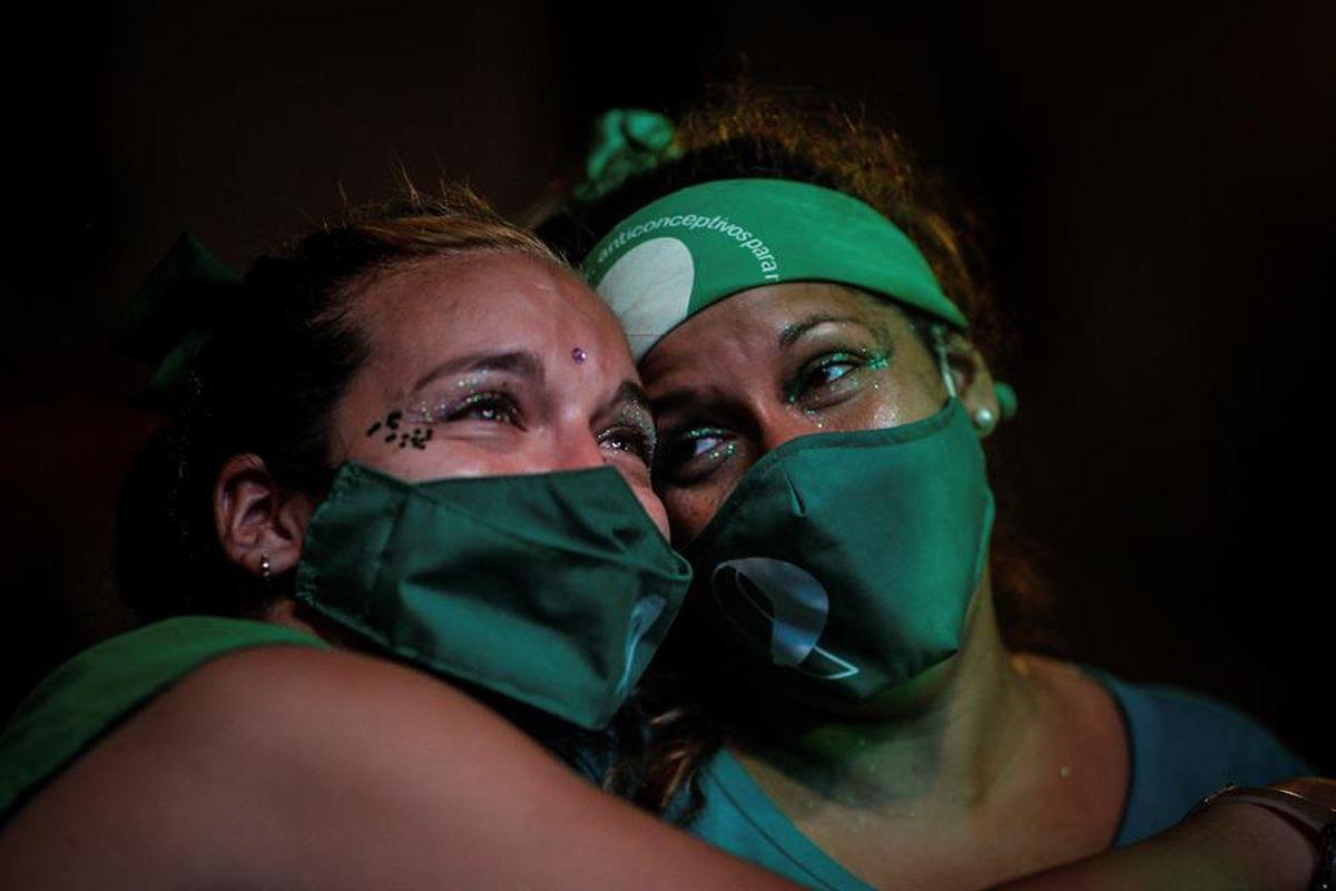
<path fill-rule="evenodd" d="M 959 335 L 949 346 L 966 410 L 995 414 L 978 353 Z M 716 303 L 651 350 L 641 373 L 679 545 L 771 449 L 918 421 L 947 398 L 937 358 L 903 314 L 827 283 Z M 962 652 L 916 683 L 898 715 L 846 721 L 792 705 L 749 713 L 747 741 L 735 741 L 796 826 L 871 884 L 979 887 L 1113 840 L 1128 784 L 1117 709 L 1066 665 L 1013 659 L 990 590 L 985 574 Z"/>

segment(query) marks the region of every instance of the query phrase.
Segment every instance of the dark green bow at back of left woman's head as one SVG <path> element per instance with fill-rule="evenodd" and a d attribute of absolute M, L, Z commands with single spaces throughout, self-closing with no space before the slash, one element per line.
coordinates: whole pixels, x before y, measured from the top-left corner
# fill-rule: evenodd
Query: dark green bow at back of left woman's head
<path fill-rule="evenodd" d="M 208 343 L 216 321 L 240 294 L 242 277 L 182 234 L 130 301 L 116 349 L 154 369 L 136 402 L 166 410 Z"/>

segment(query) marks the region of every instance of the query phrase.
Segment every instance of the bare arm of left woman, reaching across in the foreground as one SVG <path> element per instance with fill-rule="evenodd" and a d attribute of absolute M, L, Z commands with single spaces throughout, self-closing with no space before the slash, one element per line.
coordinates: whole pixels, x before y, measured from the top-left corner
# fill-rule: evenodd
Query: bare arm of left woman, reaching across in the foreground
<path fill-rule="evenodd" d="M 0 835 L 0 886 L 787 888 L 426 675 L 257 649 L 186 679 Z"/>

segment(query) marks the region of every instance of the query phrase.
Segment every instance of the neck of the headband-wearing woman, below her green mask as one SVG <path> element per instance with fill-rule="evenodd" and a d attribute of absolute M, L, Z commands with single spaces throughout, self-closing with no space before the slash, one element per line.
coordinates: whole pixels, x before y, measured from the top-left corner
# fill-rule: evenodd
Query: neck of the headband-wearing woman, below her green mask
<path fill-rule="evenodd" d="M 762 719 L 763 736 L 737 740 L 740 753 L 763 780 L 826 801 L 907 814 L 978 807 L 1019 771 L 1037 725 L 1034 688 L 1002 645 L 986 573 L 961 652 L 902 692 L 902 705 L 875 719 L 786 707 Z"/>

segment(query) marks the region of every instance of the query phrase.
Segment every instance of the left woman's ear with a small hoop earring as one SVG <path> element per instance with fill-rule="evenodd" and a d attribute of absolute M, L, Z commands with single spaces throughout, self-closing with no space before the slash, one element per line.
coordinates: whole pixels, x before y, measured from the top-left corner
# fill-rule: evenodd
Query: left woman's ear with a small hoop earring
<path fill-rule="evenodd" d="M 266 560 L 274 574 L 295 568 L 313 510 L 311 500 L 282 489 L 258 456 L 232 456 L 218 472 L 218 541 L 227 558 L 250 573 L 265 574 Z"/>

